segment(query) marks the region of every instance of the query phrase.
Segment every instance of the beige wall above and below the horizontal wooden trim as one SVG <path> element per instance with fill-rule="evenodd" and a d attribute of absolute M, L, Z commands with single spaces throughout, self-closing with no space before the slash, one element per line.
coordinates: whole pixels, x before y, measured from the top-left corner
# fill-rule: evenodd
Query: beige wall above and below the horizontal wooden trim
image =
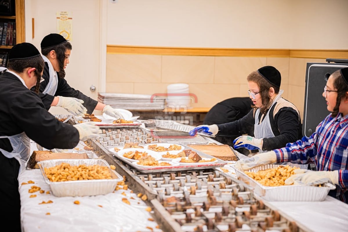
<path fill-rule="evenodd" d="M 144 47 L 348 49 L 346 0 L 119 0 L 108 2 L 107 43 Z M 327 57 L 334 58 L 334 57 Z M 348 57 L 347 57 L 348 58 Z M 247 96 L 246 76 L 263 65 L 282 74 L 284 97 L 303 116 L 307 62 L 291 57 L 108 54 L 106 92 L 166 93 L 184 82 L 212 107 Z"/>

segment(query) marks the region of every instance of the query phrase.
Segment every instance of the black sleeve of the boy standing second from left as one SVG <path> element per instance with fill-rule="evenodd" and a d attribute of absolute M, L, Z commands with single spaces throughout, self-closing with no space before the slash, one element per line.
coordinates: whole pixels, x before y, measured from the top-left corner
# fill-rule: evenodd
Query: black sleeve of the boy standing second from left
<path fill-rule="evenodd" d="M 83 105 L 87 108 L 88 114 L 91 114 L 98 104 L 97 101 L 82 94 L 79 90 L 71 88 L 64 78 L 58 78 L 58 88 L 54 96 L 76 97 L 83 100 Z"/>

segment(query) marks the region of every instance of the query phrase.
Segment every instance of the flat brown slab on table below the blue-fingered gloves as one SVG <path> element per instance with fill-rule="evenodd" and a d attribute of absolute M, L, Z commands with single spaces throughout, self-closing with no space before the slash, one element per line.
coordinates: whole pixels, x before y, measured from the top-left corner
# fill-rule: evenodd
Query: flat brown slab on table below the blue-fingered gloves
<path fill-rule="evenodd" d="M 225 161 L 237 161 L 237 157 L 227 144 L 189 144 L 189 147 Z"/>

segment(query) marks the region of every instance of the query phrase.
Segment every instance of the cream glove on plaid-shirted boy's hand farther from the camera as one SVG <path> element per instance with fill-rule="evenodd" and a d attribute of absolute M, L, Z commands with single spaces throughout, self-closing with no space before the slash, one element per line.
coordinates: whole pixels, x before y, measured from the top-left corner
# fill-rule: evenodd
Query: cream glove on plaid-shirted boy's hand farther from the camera
<path fill-rule="evenodd" d="M 234 167 L 241 170 L 249 170 L 261 165 L 277 162 L 277 155 L 274 151 L 256 154 L 250 158 L 238 160 Z"/>

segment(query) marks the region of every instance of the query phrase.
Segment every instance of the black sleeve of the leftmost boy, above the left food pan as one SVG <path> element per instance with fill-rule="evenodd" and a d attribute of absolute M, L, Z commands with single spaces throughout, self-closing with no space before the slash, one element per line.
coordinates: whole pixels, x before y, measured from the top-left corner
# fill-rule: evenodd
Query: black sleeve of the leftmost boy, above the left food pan
<path fill-rule="evenodd" d="M 58 121 L 31 91 L 13 98 L 11 115 L 29 138 L 47 149 L 71 149 L 79 142 L 78 130 Z"/>

